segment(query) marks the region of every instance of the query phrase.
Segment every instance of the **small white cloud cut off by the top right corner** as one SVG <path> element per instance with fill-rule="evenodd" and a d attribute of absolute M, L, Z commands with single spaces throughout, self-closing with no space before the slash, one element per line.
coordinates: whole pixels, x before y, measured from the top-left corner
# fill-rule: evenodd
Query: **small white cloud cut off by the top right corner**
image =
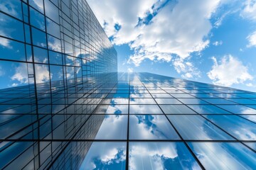
<path fill-rule="evenodd" d="M 245 8 L 243 8 L 242 16 L 252 21 L 256 21 L 256 1 L 246 0 Z"/>

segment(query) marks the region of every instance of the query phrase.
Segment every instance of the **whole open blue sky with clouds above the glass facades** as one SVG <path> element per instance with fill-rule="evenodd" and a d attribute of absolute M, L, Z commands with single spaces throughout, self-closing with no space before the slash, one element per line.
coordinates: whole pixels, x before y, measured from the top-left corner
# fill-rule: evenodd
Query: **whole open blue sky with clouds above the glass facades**
<path fill-rule="evenodd" d="M 256 91 L 255 0 L 87 0 L 119 72 Z"/>

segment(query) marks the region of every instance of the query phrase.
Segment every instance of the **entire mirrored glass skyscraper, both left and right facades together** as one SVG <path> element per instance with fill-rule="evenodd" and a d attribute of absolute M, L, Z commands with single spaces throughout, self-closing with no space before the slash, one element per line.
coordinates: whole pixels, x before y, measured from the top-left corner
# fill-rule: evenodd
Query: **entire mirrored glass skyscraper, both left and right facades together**
<path fill-rule="evenodd" d="M 84 0 L 0 10 L 0 169 L 256 168 L 255 93 L 117 73 Z"/>

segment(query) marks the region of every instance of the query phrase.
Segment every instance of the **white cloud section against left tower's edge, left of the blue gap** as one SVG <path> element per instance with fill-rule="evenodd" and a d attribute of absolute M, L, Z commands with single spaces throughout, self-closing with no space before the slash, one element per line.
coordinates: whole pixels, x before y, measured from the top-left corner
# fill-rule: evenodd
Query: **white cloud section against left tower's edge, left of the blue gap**
<path fill-rule="evenodd" d="M 151 11 L 151 6 L 157 0 L 89 0 L 90 7 L 97 16 L 98 21 L 105 28 L 107 35 L 114 36 L 114 43 L 117 45 L 131 42 L 139 35 L 135 27 L 138 18 L 144 18 L 146 12 Z M 99 10 L 100 9 L 100 10 Z M 119 24 L 121 29 L 115 30 L 115 24 Z"/>

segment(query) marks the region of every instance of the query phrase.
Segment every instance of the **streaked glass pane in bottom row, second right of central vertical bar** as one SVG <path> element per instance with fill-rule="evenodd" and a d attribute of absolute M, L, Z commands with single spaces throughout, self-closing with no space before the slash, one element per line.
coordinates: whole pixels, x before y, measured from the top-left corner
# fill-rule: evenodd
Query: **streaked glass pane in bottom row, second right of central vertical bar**
<path fill-rule="evenodd" d="M 188 142 L 206 169 L 255 169 L 256 154 L 239 142 Z"/>

